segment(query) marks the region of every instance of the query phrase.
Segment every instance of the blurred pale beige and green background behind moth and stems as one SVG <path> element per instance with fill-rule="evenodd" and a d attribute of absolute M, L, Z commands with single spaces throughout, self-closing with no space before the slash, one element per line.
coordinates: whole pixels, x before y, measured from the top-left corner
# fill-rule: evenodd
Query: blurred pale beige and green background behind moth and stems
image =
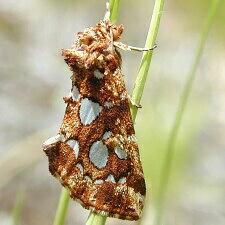
<path fill-rule="evenodd" d="M 168 135 L 211 1 L 170 0 L 146 84 L 136 135 L 148 194 L 142 221 L 151 224 Z M 144 46 L 154 1 L 122 0 L 123 42 Z M 70 89 L 61 48 L 104 15 L 101 0 L 0 0 L 0 225 L 20 199 L 21 224 L 52 224 L 61 186 L 48 172 L 41 144 L 57 133 Z M 175 149 L 163 225 L 225 224 L 225 4 L 221 5 L 188 102 Z M 141 54 L 123 52 L 131 93 Z M 16 200 L 17 199 L 17 200 Z M 18 205 L 18 204 L 17 204 Z M 67 225 L 89 212 L 70 202 Z"/>

